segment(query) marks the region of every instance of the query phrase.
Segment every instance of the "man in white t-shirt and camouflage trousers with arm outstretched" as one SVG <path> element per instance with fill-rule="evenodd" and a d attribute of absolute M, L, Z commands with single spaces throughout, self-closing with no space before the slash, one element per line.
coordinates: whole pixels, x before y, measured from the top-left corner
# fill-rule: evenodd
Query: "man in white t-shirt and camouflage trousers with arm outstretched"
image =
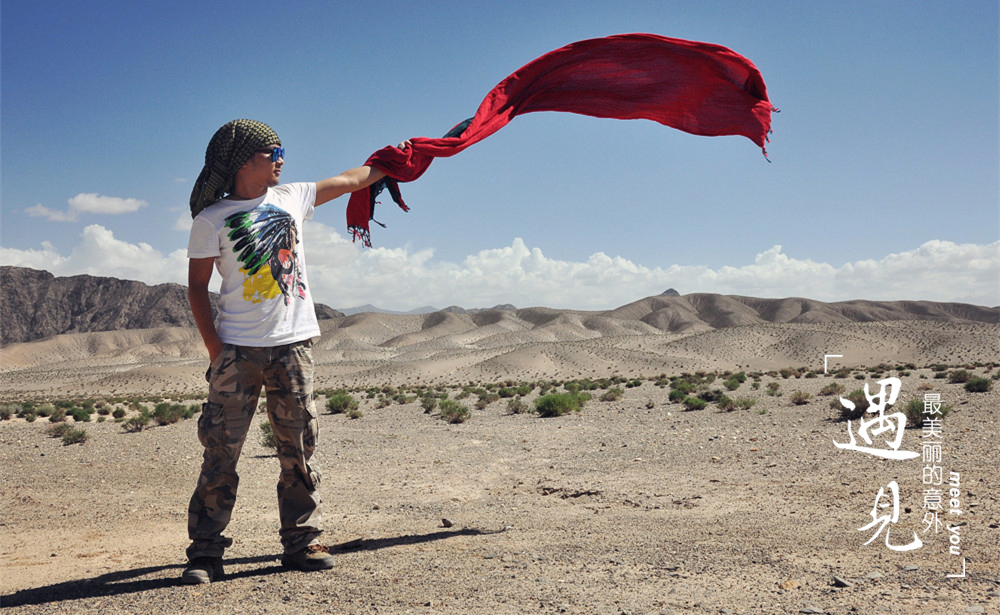
<path fill-rule="evenodd" d="M 302 223 L 314 207 L 384 174 L 362 166 L 316 183 L 279 185 L 284 154 L 266 124 L 229 122 L 209 142 L 191 193 L 188 299 L 211 365 L 208 402 L 198 420 L 205 453 L 188 508 L 185 583 L 209 583 L 223 574 L 222 555 L 232 539 L 222 532 L 236 502 L 236 464 L 261 386 L 281 466 L 282 564 L 304 571 L 333 566 L 318 540 L 320 472 L 310 461 L 317 437 L 311 340 L 320 330 Z M 214 269 L 222 276 L 217 321 L 208 292 Z"/>

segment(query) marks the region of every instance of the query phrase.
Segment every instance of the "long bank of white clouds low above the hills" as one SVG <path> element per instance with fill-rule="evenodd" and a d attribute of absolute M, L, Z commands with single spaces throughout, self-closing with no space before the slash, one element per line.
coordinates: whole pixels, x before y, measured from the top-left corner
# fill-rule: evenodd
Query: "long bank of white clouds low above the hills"
<path fill-rule="evenodd" d="M 363 249 L 317 221 L 306 226 L 305 242 L 309 283 L 316 300 L 341 308 L 366 303 L 397 310 L 513 303 L 598 310 L 667 288 L 681 293 L 820 301 L 924 299 L 1000 304 L 1000 242 L 929 241 L 878 260 L 842 265 L 794 258 L 776 245 L 752 263 L 717 269 L 650 268 L 603 252 L 582 262 L 556 260 L 519 238 L 509 246 L 471 254 L 461 263 L 436 261 L 433 250 Z M 46 269 L 56 275 L 89 273 L 150 284 L 183 284 L 187 271 L 183 249 L 163 254 L 145 243 L 116 239 L 99 225 L 86 227 L 69 254 L 48 243 L 40 250 L 0 248 L 0 263 Z"/>

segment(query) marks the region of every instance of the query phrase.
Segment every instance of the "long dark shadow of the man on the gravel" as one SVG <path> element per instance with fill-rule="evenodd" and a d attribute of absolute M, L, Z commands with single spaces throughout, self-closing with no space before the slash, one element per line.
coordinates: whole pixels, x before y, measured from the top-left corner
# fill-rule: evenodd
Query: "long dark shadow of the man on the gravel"
<path fill-rule="evenodd" d="M 392 538 L 366 538 L 351 540 L 338 545 L 331 545 L 334 553 L 346 553 L 351 551 L 377 551 L 390 547 L 422 544 L 453 538 L 456 536 L 482 536 L 486 534 L 498 534 L 504 530 L 480 530 L 474 528 L 464 528 L 460 530 L 440 530 L 428 534 L 407 534 Z M 225 578 L 218 582 L 226 582 L 234 579 L 267 576 L 280 572 L 287 572 L 287 569 L 278 563 L 280 555 L 261 555 L 256 557 L 239 557 L 226 559 L 223 561 L 226 566 L 238 566 L 246 564 L 262 564 L 259 567 L 241 570 L 235 574 L 227 573 Z M 122 570 L 109 572 L 89 579 L 78 579 L 74 581 L 64 581 L 54 583 L 44 587 L 24 589 L 8 595 L 0 596 L 0 608 L 49 604 L 62 602 L 65 600 L 84 600 L 87 598 L 98 598 L 101 596 L 117 596 L 124 594 L 134 594 L 138 592 L 162 589 L 165 587 L 175 587 L 181 585 L 180 571 L 186 566 L 185 563 L 171 564 L 168 566 L 149 566 L 145 568 L 135 568 L 133 570 Z M 146 578 L 150 575 L 165 570 L 176 569 L 177 574 L 167 578 Z"/>

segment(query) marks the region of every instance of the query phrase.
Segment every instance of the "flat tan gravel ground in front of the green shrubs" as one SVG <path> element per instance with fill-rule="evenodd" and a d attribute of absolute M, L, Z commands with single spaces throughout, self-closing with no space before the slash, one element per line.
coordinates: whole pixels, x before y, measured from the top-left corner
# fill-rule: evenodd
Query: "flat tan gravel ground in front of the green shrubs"
<path fill-rule="evenodd" d="M 960 475 L 962 514 L 946 502 L 942 515 L 958 532 L 953 555 L 947 529 L 923 531 L 920 458 L 834 446 L 847 423 L 817 394 L 835 381 L 863 384 L 764 376 L 730 394 L 756 400 L 733 412 L 686 411 L 650 381 L 617 401 L 595 391 L 581 413 L 550 419 L 509 414 L 505 400 L 462 424 L 416 403 L 363 400 L 353 420 L 321 411 L 324 538 L 338 564 L 319 573 L 278 562 L 277 460 L 251 433 L 226 578 L 197 587 L 178 583 L 195 421 L 140 433 L 87 423 L 87 442 L 69 446 L 44 419 L 4 421 L 0 605 L 12 615 L 998 612 L 998 387 L 967 393 L 927 370 L 903 378 L 897 407 L 925 392 L 954 407 L 940 464 L 946 482 Z M 766 395 L 769 382 L 783 395 Z M 796 390 L 814 397 L 793 405 Z M 920 435 L 908 428 L 899 448 L 919 451 Z M 888 537 L 859 531 L 891 481 L 899 517 Z M 886 546 L 914 532 L 921 548 Z M 965 576 L 949 577 L 963 560 Z"/>

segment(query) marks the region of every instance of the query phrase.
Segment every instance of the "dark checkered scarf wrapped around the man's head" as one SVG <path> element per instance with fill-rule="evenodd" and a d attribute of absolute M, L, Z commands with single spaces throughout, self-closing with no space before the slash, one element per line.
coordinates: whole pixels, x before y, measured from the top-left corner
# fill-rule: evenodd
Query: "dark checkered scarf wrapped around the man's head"
<path fill-rule="evenodd" d="M 254 120 L 233 120 L 215 131 L 205 150 L 205 166 L 191 191 L 191 217 L 232 191 L 236 172 L 268 145 L 281 145 L 270 126 Z"/>

